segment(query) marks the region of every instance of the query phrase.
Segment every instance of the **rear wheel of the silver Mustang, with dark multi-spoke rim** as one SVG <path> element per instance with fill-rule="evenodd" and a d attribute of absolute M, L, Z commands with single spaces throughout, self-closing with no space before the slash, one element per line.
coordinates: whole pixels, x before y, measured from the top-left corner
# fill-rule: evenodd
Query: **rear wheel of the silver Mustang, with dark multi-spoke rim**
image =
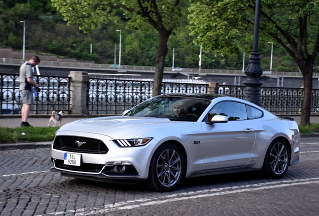
<path fill-rule="evenodd" d="M 265 155 L 263 170 L 270 178 L 281 178 L 288 170 L 290 154 L 282 139 L 274 139 Z"/>

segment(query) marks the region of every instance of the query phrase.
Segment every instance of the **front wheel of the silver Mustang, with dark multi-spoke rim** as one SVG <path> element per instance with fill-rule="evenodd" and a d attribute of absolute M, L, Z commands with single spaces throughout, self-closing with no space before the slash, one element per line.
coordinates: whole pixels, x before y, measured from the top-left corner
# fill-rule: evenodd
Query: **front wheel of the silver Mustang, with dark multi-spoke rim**
<path fill-rule="evenodd" d="M 184 178 L 185 166 L 183 153 L 176 145 L 159 146 L 149 166 L 149 188 L 162 192 L 174 190 Z"/>

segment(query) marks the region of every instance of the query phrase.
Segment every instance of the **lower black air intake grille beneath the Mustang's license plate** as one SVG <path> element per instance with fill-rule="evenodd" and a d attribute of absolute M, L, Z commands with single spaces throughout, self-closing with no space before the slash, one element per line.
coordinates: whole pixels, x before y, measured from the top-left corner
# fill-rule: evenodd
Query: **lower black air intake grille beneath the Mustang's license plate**
<path fill-rule="evenodd" d="M 55 159 L 54 165 L 56 168 L 62 168 L 72 171 L 86 171 L 86 172 L 100 172 L 103 168 L 103 164 L 95 164 L 95 163 L 84 163 L 82 162 L 80 166 L 73 166 L 64 164 L 64 160 Z"/>

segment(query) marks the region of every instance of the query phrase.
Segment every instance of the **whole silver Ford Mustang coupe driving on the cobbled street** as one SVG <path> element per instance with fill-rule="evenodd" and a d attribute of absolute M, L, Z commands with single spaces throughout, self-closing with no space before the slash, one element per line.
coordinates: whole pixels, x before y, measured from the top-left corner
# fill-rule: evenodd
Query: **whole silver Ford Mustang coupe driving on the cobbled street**
<path fill-rule="evenodd" d="M 63 176 L 106 182 L 147 180 L 153 190 L 175 189 L 183 178 L 262 169 L 282 177 L 299 160 L 300 133 L 242 99 L 211 94 L 165 94 L 122 116 L 62 126 L 51 145 Z"/>

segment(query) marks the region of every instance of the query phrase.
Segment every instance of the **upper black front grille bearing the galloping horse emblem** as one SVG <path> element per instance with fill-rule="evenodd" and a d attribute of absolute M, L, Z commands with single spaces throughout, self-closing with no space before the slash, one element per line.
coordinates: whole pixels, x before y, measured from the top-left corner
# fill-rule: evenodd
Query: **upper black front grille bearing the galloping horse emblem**
<path fill-rule="evenodd" d="M 54 140 L 53 148 L 80 153 L 106 154 L 108 151 L 108 148 L 101 140 L 81 136 L 57 136 Z"/>

